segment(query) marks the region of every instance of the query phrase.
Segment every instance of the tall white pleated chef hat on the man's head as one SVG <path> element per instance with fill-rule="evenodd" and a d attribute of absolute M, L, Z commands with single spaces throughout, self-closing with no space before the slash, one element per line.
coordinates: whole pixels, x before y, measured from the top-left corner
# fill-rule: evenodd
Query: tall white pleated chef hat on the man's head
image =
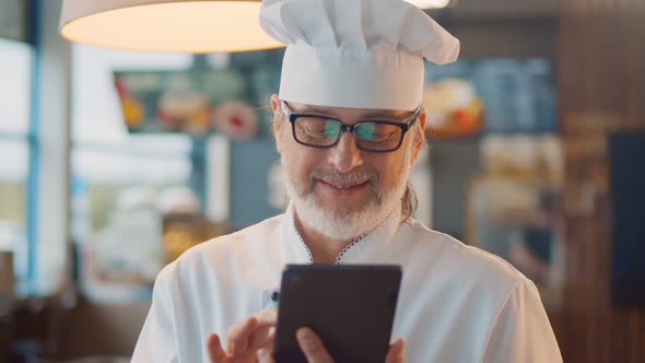
<path fill-rule="evenodd" d="M 263 0 L 260 26 L 286 44 L 280 98 L 412 110 L 423 58 L 444 65 L 459 40 L 403 0 Z"/>

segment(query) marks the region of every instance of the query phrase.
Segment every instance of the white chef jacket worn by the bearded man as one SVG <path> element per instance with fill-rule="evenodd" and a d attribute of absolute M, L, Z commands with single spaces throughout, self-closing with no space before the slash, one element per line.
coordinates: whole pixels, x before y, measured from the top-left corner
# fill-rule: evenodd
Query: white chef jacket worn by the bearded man
<path fill-rule="evenodd" d="M 189 249 L 160 272 L 132 362 L 209 362 L 209 333 L 266 308 L 286 264 L 310 262 L 291 209 Z M 406 339 L 408 362 L 562 362 L 530 280 L 400 211 L 338 262 L 402 266 L 392 338 Z"/>

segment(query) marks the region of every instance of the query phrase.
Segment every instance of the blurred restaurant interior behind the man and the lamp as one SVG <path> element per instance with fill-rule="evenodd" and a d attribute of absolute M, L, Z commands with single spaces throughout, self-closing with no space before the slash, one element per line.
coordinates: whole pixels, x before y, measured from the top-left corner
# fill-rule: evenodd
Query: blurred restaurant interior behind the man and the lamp
<path fill-rule="evenodd" d="M 415 218 L 532 279 L 565 362 L 645 362 L 645 1 L 441 2 Z M 0 362 L 128 361 L 164 265 L 285 207 L 283 49 L 70 44 L 60 3 L 0 0 Z"/>

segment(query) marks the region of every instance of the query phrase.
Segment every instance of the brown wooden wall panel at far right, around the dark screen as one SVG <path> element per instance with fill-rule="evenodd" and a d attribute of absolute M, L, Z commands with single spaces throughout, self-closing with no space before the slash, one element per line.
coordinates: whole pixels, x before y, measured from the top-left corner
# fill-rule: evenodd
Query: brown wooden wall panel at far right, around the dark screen
<path fill-rule="evenodd" d="M 645 129 L 645 0 L 560 3 L 567 265 L 554 328 L 567 363 L 643 363 L 645 307 L 611 305 L 607 136 Z"/>

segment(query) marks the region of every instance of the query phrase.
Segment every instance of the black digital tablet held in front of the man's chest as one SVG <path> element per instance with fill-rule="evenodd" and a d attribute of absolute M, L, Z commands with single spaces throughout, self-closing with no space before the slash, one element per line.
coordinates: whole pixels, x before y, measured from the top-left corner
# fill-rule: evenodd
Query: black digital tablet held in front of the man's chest
<path fill-rule="evenodd" d="M 279 295 L 277 362 L 306 362 L 295 333 L 309 327 L 337 363 L 383 363 L 400 281 L 400 266 L 289 265 Z"/>

